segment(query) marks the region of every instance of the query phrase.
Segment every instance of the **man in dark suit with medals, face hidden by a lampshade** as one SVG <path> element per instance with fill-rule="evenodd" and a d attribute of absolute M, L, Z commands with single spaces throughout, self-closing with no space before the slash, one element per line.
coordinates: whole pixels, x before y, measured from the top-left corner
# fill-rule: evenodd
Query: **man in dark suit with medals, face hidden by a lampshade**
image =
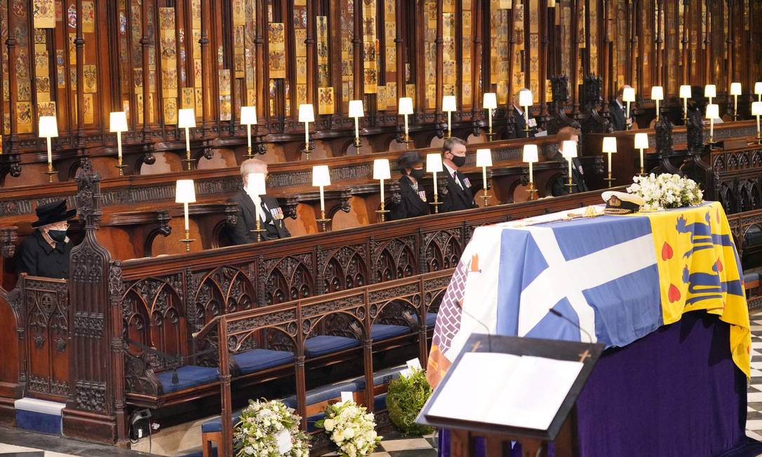
<path fill-rule="evenodd" d="M 261 173 L 267 176 L 267 164 L 258 158 L 250 158 L 241 164 L 241 177 L 243 178 L 243 189 L 239 190 L 230 201 L 238 204 L 238 211 L 235 213 L 235 225 L 228 225 L 230 239 L 234 244 L 246 244 L 257 241 L 257 217 L 260 219 L 260 228 L 264 229 L 261 233 L 263 240 L 274 240 L 277 238 L 288 238 L 291 234 L 286 225 L 283 224 L 283 210 L 278 205 L 278 200 L 269 195 L 261 195 L 261 206 L 257 207 L 254 199 L 247 192 L 248 175 L 252 173 Z"/>

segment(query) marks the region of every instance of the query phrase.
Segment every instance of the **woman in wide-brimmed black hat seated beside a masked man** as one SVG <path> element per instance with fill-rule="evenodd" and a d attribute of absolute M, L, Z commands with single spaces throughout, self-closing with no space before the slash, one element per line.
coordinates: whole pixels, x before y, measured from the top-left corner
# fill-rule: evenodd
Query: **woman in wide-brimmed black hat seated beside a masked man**
<path fill-rule="evenodd" d="M 397 169 L 402 173 L 402 177 L 399 178 L 402 200 L 392 206 L 389 220 L 426 216 L 429 213 L 429 204 L 426 200 L 426 190 L 421 184 L 425 174 L 421 155 L 415 151 L 405 152 L 399 156 Z"/>

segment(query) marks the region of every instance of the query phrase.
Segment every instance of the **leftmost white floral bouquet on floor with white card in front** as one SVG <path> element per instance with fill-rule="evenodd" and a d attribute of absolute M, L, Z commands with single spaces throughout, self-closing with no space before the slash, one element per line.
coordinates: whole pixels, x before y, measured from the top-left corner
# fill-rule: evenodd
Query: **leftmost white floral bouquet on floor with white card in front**
<path fill-rule="evenodd" d="M 282 401 L 249 400 L 235 424 L 235 455 L 309 457 L 309 437 L 299 415 Z"/>

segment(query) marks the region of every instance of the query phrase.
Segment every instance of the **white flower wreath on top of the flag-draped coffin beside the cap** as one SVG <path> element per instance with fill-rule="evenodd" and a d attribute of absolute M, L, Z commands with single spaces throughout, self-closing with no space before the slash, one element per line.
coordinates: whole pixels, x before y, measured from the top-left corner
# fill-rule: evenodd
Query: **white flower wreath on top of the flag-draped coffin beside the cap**
<path fill-rule="evenodd" d="M 703 202 L 704 194 L 696 181 L 679 174 L 663 173 L 656 176 L 632 177 L 633 184 L 627 192 L 645 200 L 645 211 L 696 206 Z"/>

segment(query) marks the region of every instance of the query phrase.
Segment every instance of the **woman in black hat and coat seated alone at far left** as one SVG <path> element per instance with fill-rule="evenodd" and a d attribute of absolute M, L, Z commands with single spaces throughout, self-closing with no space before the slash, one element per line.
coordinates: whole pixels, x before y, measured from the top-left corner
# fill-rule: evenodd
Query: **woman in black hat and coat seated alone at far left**
<path fill-rule="evenodd" d="M 37 228 L 21 242 L 17 258 L 18 273 L 46 278 L 69 279 L 69 253 L 72 242 L 66 236 L 69 219 L 76 209 L 66 210 L 66 200 L 37 206 Z"/>

